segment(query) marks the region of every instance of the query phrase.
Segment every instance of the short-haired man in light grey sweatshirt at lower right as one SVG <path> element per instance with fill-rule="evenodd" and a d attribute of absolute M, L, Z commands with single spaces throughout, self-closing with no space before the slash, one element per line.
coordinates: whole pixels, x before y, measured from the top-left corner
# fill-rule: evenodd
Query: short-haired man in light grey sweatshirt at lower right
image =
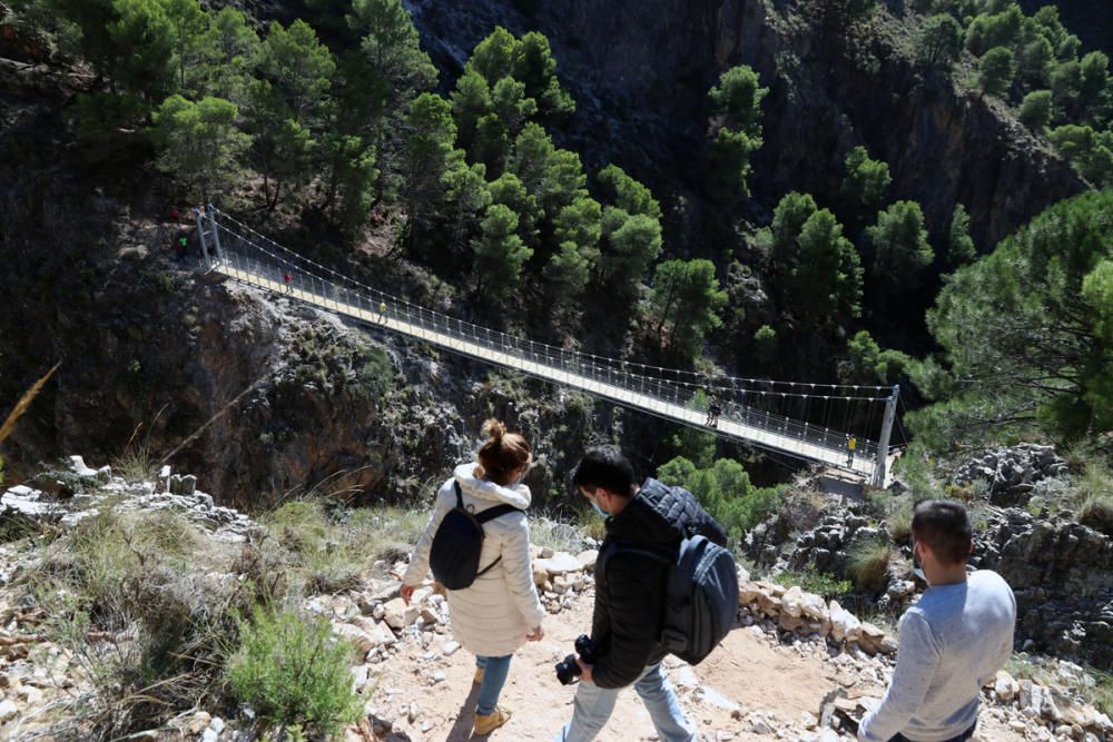
<path fill-rule="evenodd" d="M 893 682 L 858 740 L 963 742 L 977 725 L 982 686 L 1013 651 L 1016 598 L 996 572 L 966 574 L 974 541 L 958 503 L 917 505 L 912 536 L 928 588 L 900 617 Z"/>

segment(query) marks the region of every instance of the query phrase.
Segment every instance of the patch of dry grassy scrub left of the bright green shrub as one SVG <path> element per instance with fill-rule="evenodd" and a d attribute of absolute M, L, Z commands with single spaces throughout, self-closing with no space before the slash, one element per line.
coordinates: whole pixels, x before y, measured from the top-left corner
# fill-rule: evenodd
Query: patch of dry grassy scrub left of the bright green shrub
<path fill-rule="evenodd" d="M 235 616 L 259 602 L 234 557 L 180 515 L 111 504 L 43 550 L 23 586 L 90 689 L 59 736 L 120 739 L 218 699 Z"/>

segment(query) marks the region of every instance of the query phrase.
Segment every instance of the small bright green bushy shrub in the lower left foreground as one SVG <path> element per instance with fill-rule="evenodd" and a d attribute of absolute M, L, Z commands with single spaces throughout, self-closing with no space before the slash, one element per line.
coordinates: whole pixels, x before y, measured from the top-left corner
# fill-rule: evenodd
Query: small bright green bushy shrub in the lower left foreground
<path fill-rule="evenodd" d="M 326 736 L 359 718 L 363 704 L 348 670 L 353 647 L 327 621 L 256 609 L 239 630 L 227 667 L 236 698 L 276 724 L 303 724 Z"/>

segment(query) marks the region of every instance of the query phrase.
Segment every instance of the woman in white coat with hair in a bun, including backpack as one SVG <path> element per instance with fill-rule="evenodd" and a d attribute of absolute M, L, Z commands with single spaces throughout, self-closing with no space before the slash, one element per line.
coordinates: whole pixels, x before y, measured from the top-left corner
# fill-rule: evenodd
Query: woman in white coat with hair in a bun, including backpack
<path fill-rule="evenodd" d="M 475 734 L 510 720 L 498 705 L 515 650 L 541 641 L 545 611 L 533 584 L 530 528 L 530 444 L 495 419 L 483 423 L 486 438 L 476 462 L 457 466 L 436 493 L 433 516 L 402 578 L 410 603 L 425 573 L 446 588 L 452 634 L 475 655 Z"/>

